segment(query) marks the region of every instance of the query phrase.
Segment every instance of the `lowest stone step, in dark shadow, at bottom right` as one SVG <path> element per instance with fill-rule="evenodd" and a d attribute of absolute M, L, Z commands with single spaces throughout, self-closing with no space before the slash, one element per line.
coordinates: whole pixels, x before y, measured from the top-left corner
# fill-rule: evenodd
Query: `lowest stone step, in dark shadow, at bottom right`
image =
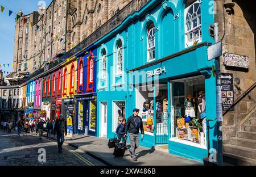
<path fill-rule="evenodd" d="M 223 161 L 237 166 L 256 166 L 256 160 L 230 153 L 223 153 Z"/>

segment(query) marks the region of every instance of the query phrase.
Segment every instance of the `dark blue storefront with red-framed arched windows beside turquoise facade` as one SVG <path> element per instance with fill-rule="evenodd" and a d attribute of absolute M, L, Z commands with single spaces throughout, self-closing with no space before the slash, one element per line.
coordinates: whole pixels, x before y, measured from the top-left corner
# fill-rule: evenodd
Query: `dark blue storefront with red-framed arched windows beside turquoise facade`
<path fill-rule="evenodd" d="M 90 67 L 88 60 L 90 60 L 90 56 L 94 56 L 94 65 L 93 65 L 93 82 L 88 81 L 88 68 Z M 82 52 L 76 55 L 79 60 L 77 60 L 77 94 L 75 95 L 75 119 L 76 119 L 76 132 L 77 134 L 84 134 L 85 131 L 88 132 L 89 136 L 96 136 L 97 126 L 95 126 L 94 130 L 90 126 L 90 119 L 91 119 L 91 102 L 96 103 L 97 99 L 97 92 L 96 92 L 96 84 L 97 84 L 97 49 L 91 45 L 90 47 L 86 48 Z M 79 70 L 79 65 L 82 62 L 83 66 L 83 77 L 82 77 L 82 85 L 80 85 L 79 77 L 81 71 Z M 79 109 L 80 104 L 82 104 L 82 110 Z M 97 104 L 96 110 L 97 110 Z M 95 111 L 96 111 L 95 110 Z M 79 129 L 79 113 L 82 114 L 82 125 Z M 96 113 L 95 113 L 96 114 Z M 97 114 L 95 115 L 97 117 Z M 96 119 L 97 123 L 97 119 Z M 85 130 L 85 127 L 87 129 Z"/>

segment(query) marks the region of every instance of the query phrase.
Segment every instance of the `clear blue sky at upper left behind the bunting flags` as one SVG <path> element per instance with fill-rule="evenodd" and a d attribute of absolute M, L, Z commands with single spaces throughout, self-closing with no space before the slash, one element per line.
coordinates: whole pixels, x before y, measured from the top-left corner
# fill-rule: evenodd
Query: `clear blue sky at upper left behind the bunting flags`
<path fill-rule="evenodd" d="M 5 7 L 3 13 L 0 11 L 0 70 L 13 71 L 11 64 L 13 63 L 14 52 L 14 35 L 15 35 L 15 18 L 19 10 L 22 10 L 23 15 L 30 14 L 32 11 L 37 11 L 40 0 L 0 0 L 0 6 Z M 44 0 L 46 7 L 52 2 L 52 0 Z M 9 16 L 9 10 L 16 14 Z M 10 64 L 10 67 L 3 67 L 3 64 Z"/>

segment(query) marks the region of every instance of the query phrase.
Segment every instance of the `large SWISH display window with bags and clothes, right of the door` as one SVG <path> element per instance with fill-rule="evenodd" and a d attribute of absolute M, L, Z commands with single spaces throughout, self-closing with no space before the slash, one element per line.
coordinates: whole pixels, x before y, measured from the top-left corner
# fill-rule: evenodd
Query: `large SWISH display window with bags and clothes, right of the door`
<path fill-rule="evenodd" d="M 171 82 L 172 138 L 206 146 L 204 77 Z"/>

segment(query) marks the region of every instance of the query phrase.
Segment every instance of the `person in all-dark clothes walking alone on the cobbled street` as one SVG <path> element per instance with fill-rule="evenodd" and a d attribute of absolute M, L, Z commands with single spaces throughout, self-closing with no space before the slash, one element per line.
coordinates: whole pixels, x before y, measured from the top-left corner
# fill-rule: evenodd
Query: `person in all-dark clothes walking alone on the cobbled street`
<path fill-rule="evenodd" d="M 53 129 L 53 135 L 57 133 L 57 144 L 59 153 L 62 151 L 62 145 L 64 142 L 64 132 L 65 136 L 67 136 L 68 130 L 67 130 L 67 121 L 63 118 L 63 115 L 60 114 L 59 119 L 56 120 L 55 127 Z"/>

